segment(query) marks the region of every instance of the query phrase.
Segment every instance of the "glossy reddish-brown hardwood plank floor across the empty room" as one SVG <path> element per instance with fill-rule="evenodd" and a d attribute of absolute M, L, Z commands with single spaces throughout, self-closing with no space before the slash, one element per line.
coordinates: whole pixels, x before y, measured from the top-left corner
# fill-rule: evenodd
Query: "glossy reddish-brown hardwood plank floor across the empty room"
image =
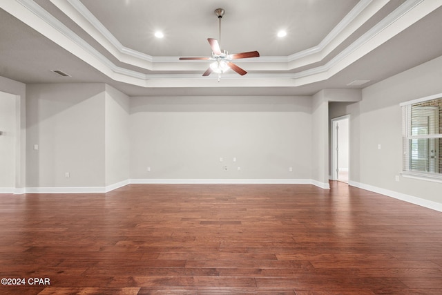
<path fill-rule="evenodd" d="M 441 212 L 331 185 L 0 195 L 0 294 L 442 294 Z"/>

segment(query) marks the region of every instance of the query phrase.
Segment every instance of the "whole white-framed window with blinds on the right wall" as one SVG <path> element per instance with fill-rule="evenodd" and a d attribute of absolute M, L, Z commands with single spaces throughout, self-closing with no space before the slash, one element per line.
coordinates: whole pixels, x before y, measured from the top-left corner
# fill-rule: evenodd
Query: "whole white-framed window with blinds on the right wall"
<path fill-rule="evenodd" d="M 401 106 L 403 175 L 442 181 L 442 93 Z"/>

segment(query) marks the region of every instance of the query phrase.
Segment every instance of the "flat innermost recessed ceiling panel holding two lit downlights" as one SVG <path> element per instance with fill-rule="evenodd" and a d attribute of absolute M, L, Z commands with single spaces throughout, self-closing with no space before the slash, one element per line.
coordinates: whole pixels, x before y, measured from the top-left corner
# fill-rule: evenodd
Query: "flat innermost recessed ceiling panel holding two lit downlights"
<path fill-rule="evenodd" d="M 215 8 L 226 11 L 222 48 L 231 53 L 258 48 L 264 56 L 287 56 L 318 45 L 358 0 L 278 0 L 278 5 L 275 1 L 256 0 L 81 3 L 123 46 L 155 57 L 209 55 L 206 39 L 218 39 L 219 35 Z M 276 33 L 282 29 L 289 35 L 278 39 Z M 156 30 L 166 37 L 154 38 Z"/>

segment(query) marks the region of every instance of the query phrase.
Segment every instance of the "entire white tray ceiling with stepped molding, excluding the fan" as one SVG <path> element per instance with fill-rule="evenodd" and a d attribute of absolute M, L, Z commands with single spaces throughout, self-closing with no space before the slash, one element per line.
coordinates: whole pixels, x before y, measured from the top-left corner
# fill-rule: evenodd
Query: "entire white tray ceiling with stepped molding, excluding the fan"
<path fill-rule="evenodd" d="M 0 1 L 0 75 L 104 82 L 137 95 L 312 95 L 362 88 L 442 55 L 442 0 Z M 207 38 L 258 50 L 249 73 L 202 77 Z M 164 38 L 154 33 L 161 30 Z M 287 36 L 276 37 L 278 30 Z M 71 77 L 59 77 L 50 70 Z M 362 86 L 347 86 L 369 80 Z"/>

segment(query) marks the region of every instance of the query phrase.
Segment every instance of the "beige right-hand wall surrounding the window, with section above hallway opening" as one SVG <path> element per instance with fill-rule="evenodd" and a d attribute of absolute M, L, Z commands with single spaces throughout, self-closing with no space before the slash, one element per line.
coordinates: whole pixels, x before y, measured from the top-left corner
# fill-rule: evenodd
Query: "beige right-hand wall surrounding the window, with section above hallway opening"
<path fill-rule="evenodd" d="M 442 183 L 401 176 L 402 112 L 399 106 L 401 102 L 442 93 L 441 81 L 442 57 L 439 57 L 364 88 L 361 102 L 330 105 L 330 113 L 334 115 L 351 115 L 350 184 L 404 200 L 414 201 L 408 196 L 421 199 L 416 203 L 442 203 Z"/>

